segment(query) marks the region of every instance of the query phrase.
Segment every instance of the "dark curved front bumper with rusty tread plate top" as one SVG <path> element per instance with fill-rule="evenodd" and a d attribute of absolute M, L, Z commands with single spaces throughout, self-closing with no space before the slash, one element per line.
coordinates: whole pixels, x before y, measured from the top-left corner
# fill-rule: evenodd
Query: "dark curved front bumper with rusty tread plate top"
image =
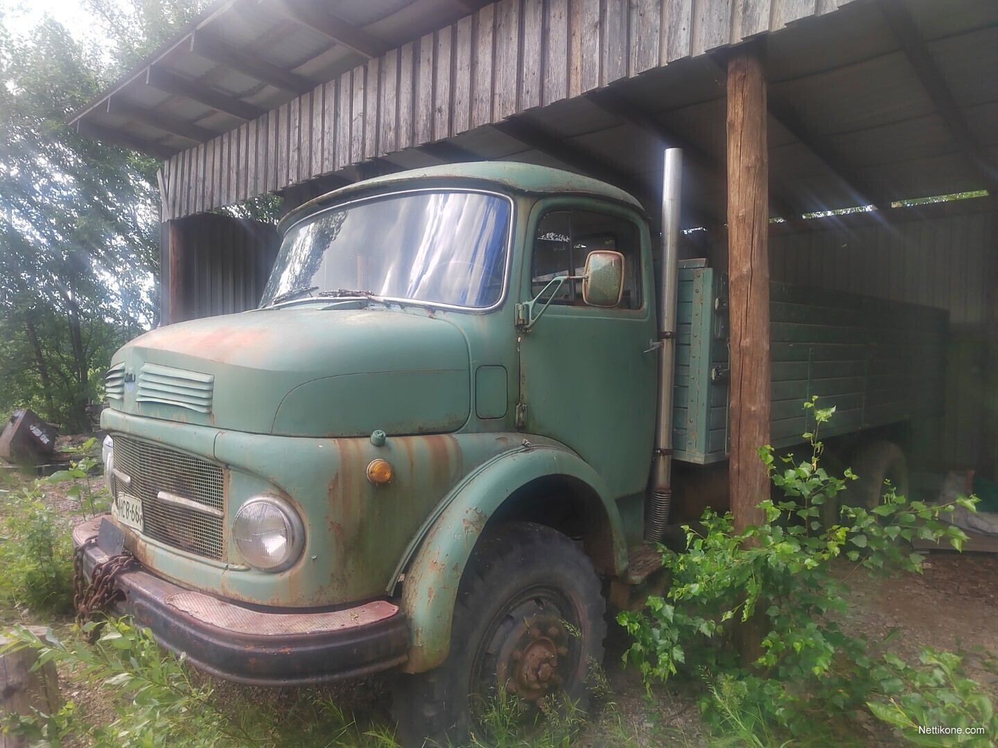
<path fill-rule="evenodd" d="M 73 531 L 80 547 L 98 535 L 96 518 Z M 108 556 L 97 545 L 84 556 L 90 578 Z M 408 633 L 398 606 L 374 600 L 319 612 L 274 612 L 234 604 L 161 579 L 145 569 L 121 574 L 117 612 L 148 626 L 156 640 L 225 680 L 262 686 L 324 683 L 384 670 L 406 659 Z"/>

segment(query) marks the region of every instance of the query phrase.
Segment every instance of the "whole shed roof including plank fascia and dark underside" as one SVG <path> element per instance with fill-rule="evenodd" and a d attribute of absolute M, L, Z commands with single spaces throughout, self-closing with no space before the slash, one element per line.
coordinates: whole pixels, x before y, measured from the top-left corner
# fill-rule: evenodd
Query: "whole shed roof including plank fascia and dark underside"
<path fill-rule="evenodd" d="M 788 0 L 745 0 L 727 19 L 712 9 L 732 4 L 710 0 L 643 3 L 638 16 L 634 2 L 575 0 L 578 12 L 559 15 L 567 5 L 224 0 L 73 122 L 146 153 L 180 154 L 165 168 L 167 217 L 328 174 L 354 181 L 370 173 L 364 162 L 383 173 L 524 161 L 650 196 L 669 142 L 694 152 L 688 220 L 723 220 L 723 48 L 763 33 L 774 214 L 998 191 L 993 0 L 815 0 L 785 28 Z M 691 20 L 677 15 L 683 8 Z M 507 17 L 519 28 L 503 30 Z M 394 51 L 414 40 L 415 51 Z M 512 86 L 501 43 L 518 49 Z M 601 103 L 608 88 L 616 99 Z"/>

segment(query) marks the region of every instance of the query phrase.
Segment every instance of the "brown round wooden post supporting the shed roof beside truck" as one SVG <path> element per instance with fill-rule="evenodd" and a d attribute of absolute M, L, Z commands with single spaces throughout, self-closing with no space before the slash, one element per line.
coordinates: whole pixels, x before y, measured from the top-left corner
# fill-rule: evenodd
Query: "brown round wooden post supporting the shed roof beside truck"
<path fill-rule="evenodd" d="M 731 314 L 729 464 L 737 531 L 764 521 L 768 497 L 756 449 L 769 442 L 768 156 L 765 78 L 756 49 L 728 62 L 728 257 Z"/>

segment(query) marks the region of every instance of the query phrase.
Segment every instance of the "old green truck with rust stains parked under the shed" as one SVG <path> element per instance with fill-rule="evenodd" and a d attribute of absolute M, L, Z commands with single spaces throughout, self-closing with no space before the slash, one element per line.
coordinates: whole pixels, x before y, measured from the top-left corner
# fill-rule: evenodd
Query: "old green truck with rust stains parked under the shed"
<path fill-rule="evenodd" d="M 496 689 L 582 699 L 672 460 L 726 459 L 725 280 L 678 259 L 679 158 L 661 257 L 632 196 L 523 164 L 291 211 L 259 308 L 114 356 L 86 573 L 134 554 L 119 610 L 223 678 L 394 668 L 407 744 L 459 742 Z M 944 314 L 778 284 L 772 310 L 775 444 L 811 394 L 843 434 L 935 407 Z"/>

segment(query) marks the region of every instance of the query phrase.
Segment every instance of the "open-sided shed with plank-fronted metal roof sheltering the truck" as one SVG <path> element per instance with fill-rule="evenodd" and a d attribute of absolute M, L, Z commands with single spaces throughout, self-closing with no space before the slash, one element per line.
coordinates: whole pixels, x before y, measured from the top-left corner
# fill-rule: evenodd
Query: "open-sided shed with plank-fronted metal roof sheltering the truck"
<path fill-rule="evenodd" d="M 764 147 L 733 162 L 746 66 Z M 991 0 L 221 0 L 72 125 L 164 161 L 168 322 L 255 306 L 273 228 L 215 210 L 258 195 L 289 208 L 504 160 L 596 177 L 656 215 L 662 150 L 680 147 L 683 251 L 728 269 L 734 186 L 762 169 L 772 279 L 948 310 L 926 466 L 998 474 Z"/>

